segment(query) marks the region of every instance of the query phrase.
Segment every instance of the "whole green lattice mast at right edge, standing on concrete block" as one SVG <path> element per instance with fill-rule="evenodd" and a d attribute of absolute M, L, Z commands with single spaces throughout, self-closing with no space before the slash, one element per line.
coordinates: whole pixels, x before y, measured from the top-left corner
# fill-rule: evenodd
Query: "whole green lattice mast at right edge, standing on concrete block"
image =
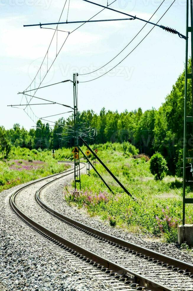
<path fill-rule="evenodd" d="M 186 198 L 186 167 L 193 164 L 192 146 L 187 145 L 188 135 L 193 133 L 193 64 L 191 64 L 191 71 L 188 71 L 188 37 L 191 40 L 191 62 L 193 57 L 193 0 L 186 1 L 186 62 L 185 62 L 185 96 L 184 96 L 184 155 L 183 155 L 183 217 L 182 224 L 185 224 L 185 204 L 193 203 L 193 198 Z M 190 6 L 189 6 L 190 4 Z M 190 10 L 190 11 L 189 11 Z M 190 12 L 190 24 L 189 24 L 189 12 Z M 188 93 L 188 79 L 192 80 L 191 86 L 191 112 L 187 108 L 187 93 Z M 189 115 L 189 116 L 188 116 Z M 190 154 L 189 154 L 190 153 Z M 191 157 L 191 156 L 192 157 Z M 188 165 L 187 165 L 188 164 Z"/>

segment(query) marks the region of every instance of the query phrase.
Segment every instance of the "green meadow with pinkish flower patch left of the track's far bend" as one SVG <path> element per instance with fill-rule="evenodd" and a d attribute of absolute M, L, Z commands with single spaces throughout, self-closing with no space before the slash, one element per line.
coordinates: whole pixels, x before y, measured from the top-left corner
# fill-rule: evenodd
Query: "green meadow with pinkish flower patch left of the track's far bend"
<path fill-rule="evenodd" d="M 56 156 L 60 153 L 56 151 Z M 0 160 L 0 192 L 13 186 L 60 173 L 69 166 L 58 164 L 51 151 L 13 147 L 9 159 Z"/>

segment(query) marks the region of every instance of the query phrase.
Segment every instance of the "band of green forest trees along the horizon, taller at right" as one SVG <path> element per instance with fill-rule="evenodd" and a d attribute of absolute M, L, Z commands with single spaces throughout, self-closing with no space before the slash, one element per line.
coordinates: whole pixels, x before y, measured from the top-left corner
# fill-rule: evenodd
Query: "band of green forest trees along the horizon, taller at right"
<path fill-rule="evenodd" d="M 190 60 L 189 67 L 191 67 Z M 130 112 L 125 110 L 118 113 L 102 108 L 100 114 L 96 114 L 93 110 L 79 112 L 80 131 L 88 131 L 89 128 L 97 129 L 97 136 L 95 135 L 93 139 L 85 137 L 90 144 L 129 141 L 139 148 L 140 153 L 152 156 L 158 151 L 166 158 L 171 173 L 180 175 L 183 154 L 184 79 L 183 71 L 158 110 L 152 108 L 143 113 L 142 109 L 138 108 L 138 110 Z M 192 84 L 188 80 L 189 116 L 192 116 L 191 90 Z M 53 128 L 40 120 L 37 122 L 37 127 L 29 131 L 19 124 L 14 124 L 9 130 L 1 126 L 0 149 L 4 152 L 9 151 L 11 145 L 29 149 L 72 147 L 74 143 L 72 130 L 73 115 L 67 119 L 60 118 Z M 188 127 L 187 137 L 187 153 L 191 156 L 192 124 Z M 5 144 L 9 144 L 7 150 Z"/>

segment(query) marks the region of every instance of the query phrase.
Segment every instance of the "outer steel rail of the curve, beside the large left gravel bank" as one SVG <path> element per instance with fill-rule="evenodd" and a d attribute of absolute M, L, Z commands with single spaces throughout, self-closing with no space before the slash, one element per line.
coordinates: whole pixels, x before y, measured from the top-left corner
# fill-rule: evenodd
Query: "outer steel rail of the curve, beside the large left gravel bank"
<path fill-rule="evenodd" d="M 72 171 L 72 169 L 70 169 Z M 66 171 L 69 172 L 70 170 Z M 62 172 L 64 173 L 64 172 Z M 74 173 L 73 171 L 71 173 Z M 67 176 L 71 173 L 67 173 L 64 176 Z M 61 173 L 60 173 L 61 174 Z M 15 202 L 16 196 L 23 190 L 26 189 L 28 187 L 30 187 L 31 185 L 38 183 L 39 181 L 43 181 L 47 178 L 50 178 L 52 176 L 56 176 L 59 174 L 54 174 L 45 178 L 42 178 L 38 181 L 33 181 L 30 184 L 26 185 L 26 186 L 22 186 L 20 189 L 16 190 L 10 197 L 9 199 L 9 203 L 11 208 L 14 210 L 14 212 L 21 218 L 23 219 L 28 225 L 30 225 L 31 227 L 33 227 L 33 229 L 35 229 L 36 231 L 38 231 L 38 233 L 43 234 L 44 236 L 46 236 L 47 238 L 51 238 L 51 240 L 53 242 L 55 242 L 56 244 L 58 244 L 59 246 L 61 246 L 64 249 L 69 250 L 70 252 L 72 252 L 74 254 L 75 252 L 78 252 L 79 254 L 75 253 L 77 255 L 77 257 L 82 258 L 83 260 L 90 262 L 91 265 L 95 265 L 98 267 L 102 267 L 102 268 L 106 268 L 109 269 L 113 272 L 116 272 L 118 275 L 120 276 L 126 276 L 128 279 L 130 279 L 132 282 L 139 284 L 140 286 L 145 286 L 145 290 L 152 290 L 152 291 L 174 291 L 173 289 L 163 286 L 162 284 L 158 284 L 155 281 L 148 279 L 138 273 L 135 273 L 127 268 L 124 268 L 121 265 L 118 265 L 110 260 L 107 260 L 101 256 L 99 256 L 98 254 L 95 254 L 79 245 L 77 245 L 76 243 L 73 243 L 69 240 L 67 240 L 64 237 L 61 237 L 60 235 L 54 233 L 53 231 L 49 230 L 48 228 L 44 227 L 43 225 L 39 224 L 38 222 L 34 221 L 33 219 L 31 219 L 29 216 L 27 216 L 25 213 L 23 213 L 23 211 L 21 211 Z M 60 177 L 62 178 L 62 177 Z M 59 179 L 59 178 L 56 178 Z M 56 181 L 56 179 L 54 181 Z M 70 248 L 70 249 L 69 249 Z M 148 288 L 148 289 L 147 289 Z M 142 289 L 143 290 L 143 289 Z"/>

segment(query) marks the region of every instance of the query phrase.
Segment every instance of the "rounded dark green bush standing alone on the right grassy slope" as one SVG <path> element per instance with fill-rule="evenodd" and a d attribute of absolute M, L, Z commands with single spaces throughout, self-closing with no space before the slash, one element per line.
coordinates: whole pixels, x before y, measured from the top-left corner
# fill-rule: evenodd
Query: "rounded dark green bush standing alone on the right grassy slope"
<path fill-rule="evenodd" d="M 156 152 L 150 160 L 150 171 L 154 175 L 155 180 L 162 180 L 168 170 L 164 157 Z"/>

